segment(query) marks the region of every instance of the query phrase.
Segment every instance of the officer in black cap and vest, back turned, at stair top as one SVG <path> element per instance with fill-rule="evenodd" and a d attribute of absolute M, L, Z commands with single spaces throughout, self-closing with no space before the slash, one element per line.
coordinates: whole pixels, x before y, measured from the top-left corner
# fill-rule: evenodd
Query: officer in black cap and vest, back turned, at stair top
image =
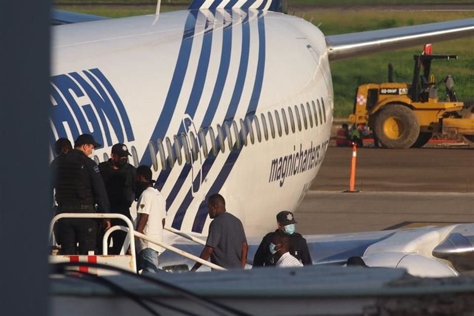
<path fill-rule="evenodd" d="M 95 204 L 100 213 L 110 212 L 99 167 L 88 158 L 94 148 L 100 146 L 92 135 L 82 134 L 76 139 L 74 149 L 57 159 L 53 185 L 56 188 L 58 213 L 94 213 Z M 110 228 L 110 220 L 104 219 L 104 227 Z M 63 218 L 57 223 L 57 233 L 61 240 L 61 254 L 86 255 L 90 250 L 95 251 L 95 219 Z"/>

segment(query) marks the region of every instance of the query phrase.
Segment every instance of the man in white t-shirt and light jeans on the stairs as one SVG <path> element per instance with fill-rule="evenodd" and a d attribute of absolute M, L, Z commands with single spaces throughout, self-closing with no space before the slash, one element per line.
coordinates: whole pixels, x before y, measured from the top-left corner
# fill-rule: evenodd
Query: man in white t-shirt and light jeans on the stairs
<path fill-rule="evenodd" d="M 152 170 L 148 166 L 139 166 L 135 176 L 135 194 L 137 202 L 136 231 L 158 241 L 163 239 L 163 228 L 166 217 L 166 203 L 159 191 L 153 188 Z M 164 248 L 138 239 L 138 269 L 142 273 L 157 273 L 158 256 Z"/>

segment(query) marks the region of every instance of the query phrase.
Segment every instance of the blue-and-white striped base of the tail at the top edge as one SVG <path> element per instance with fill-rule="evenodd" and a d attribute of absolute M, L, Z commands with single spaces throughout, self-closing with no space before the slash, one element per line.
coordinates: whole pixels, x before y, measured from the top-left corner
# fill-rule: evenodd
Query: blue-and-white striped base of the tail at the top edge
<path fill-rule="evenodd" d="M 285 12 L 287 0 L 194 0 L 189 9 L 256 9 Z"/>

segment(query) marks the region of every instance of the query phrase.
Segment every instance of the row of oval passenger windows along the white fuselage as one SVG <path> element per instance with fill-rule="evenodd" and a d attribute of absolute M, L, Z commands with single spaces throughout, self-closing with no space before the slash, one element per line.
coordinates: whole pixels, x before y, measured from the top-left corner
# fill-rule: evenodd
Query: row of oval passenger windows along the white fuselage
<path fill-rule="evenodd" d="M 275 110 L 273 114 L 269 111 L 267 115 L 262 113 L 260 117 L 255 115 L 252 116 L 252 118 L 253 124 L 250 117 L 246 117 L 245 120 L 239 120 L 238 125 L 240 125 L 240 131 L 237 121 L 233 120 L 232 122 L 224 122 L 222 126 L 217 124 L 215 131 L 212 126 L 209 126 L 207 133 L 201 128 L 197 135 L 195 135 L 193 131 L 181 133 L 181 135 L 174 135 L 173 143 L 169 137 L 166 137 L 164 141 L 158 139 L 157 144 L 150 142 L 148 144 L 148 150 L 152 157 L 154 170 L 158 171 L 158 160 L 163 170 L 166 169 L 168 164 L 169 167 L 172 168 L 176 162 L 179 165 L 183 162 L 193 163 L 198 159 L 199 149 L 202 149 L 202 155 L 204 158 L 207 158 L 209 154 L 216 156 L 219 151 L 224 153 L 226 143 L 229 150 L 232 150 L 234 146 L 237 146 L 237 149 L 241 146 L 247 146 L 247 135 L 250 138 L 250 143 L 253 145 L 256 140 L 260 143 L 262 139 L 267 141 L 270 137 L 274 139 L 276 135 L 279 137 L 288 135 L 290 129 L 292 133 L 295 133 L 297 130 L 302 131 L 303 128 L 316 127 L 326 122 L 326 107 L 324 100 L 321 98 L 320 100 L 316 100 L 316 102 L 301 103 L 299 106 L 295 105 L 293 108 L 288 107 L 286 110 L 284 108 L 280 109 L 280 111 Z M 206 139 L 206 134 L 209 135 L 209 141 Z M 235 142 L 233 140 L 235 140 Z M 211 146 L 210 151 L 208 150 L 208 143 Z M 166 158 L 164 148 L 166 148 L 168 158 Z M 135 167 L 138 167 L 139 159 L 137 150 L 134 146 L 131 146 L 130 151 L 133 164 Z M 104 153 L 104 161 L 108 159 L 109 156 Z M 97 156 L 94 156 L 94 160 L 99 163 Z"/>

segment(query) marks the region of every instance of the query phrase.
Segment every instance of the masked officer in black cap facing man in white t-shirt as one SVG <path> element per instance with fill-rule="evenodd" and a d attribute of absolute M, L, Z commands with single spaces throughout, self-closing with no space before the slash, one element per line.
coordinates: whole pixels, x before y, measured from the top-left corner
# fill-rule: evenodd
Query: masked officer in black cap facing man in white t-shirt
<path fill-rule="evenodd" d="M 99 163 L 100 173 L 109 197 L 110 209 L 112 213 L 123 214 L 131 220 L 130 206 L 134 199 L 133 180 L 136 174 L 135 167 L 128 163 L 128 156 L 132 155 L 128 152 L 127 146 L 119 143 L 112 146 L 110 156 L 108 161 Z M 112 226 L 127 226 L 125 222 L 115 218 L 111 220 L 111 223 Z M 114 239 L 114 245 L 110 253 L 118 255 L 127 233 L 115 231 L 111 236 Z"/>

